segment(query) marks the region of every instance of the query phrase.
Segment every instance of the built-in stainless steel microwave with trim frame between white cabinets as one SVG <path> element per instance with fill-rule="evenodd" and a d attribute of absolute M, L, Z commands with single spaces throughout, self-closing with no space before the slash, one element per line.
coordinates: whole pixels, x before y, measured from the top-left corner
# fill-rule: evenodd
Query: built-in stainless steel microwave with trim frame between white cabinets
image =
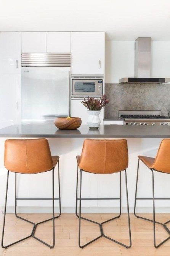
<path fill-rule="evenodd" d="M 103 77 L 72 77 L 72 95 L 102 95 Z"/>

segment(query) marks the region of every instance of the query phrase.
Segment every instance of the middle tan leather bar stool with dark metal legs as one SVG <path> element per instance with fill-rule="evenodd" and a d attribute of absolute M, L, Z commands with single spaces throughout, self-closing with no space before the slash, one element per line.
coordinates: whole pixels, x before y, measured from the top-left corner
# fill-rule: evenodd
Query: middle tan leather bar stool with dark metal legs
<path fill-rule="evenodd" d="M 118 243 L 119 245 L 130 248 L 132 245 L 131 232 L 130 232 L 130 217 L 129 217 L 129 206 L 128 206 L 128 190 L 127 190 L 127 175 L 126 169 L 128 167 L 128 148 L 126 139 L 85 139 L 82 149 L 82 155 L 77 156 L 77 186 L 78 186 L 78 170 L 80 169 L 80 198 L 77 197 L 77 186 L 76 186 L 76 206 L 75 214 L 79 218 L 79 247 L 84 248 L 93 241 L 96 241 L 101 236 Z M 120 172 L 120 197 L 119 198 L 82 198 L 82 171 L 91 172 L 95 174 L 113 174 Z M 128 227 L 129 227 L 129 238 L 130 245 L 124 245 L 119 241 L 116 241 L 106 235 L 104 235 L 103 224 L 119 218 L 121 215 L 121 172 L 125 171 L 125 183 L 126 183 L 126 196 L 127 196 L 127 212 L 128 212 Z M 109 177 L 108 177 L 109 178 Z M 117 217 L 106 220 L 102 223 L 89 220 L 81 217 L 81 201 L 82 200 L 120 200 L 120 213 Z M 77 215 L 77 200 L 80 200 L 79 215 Z M 85 245 L 80 245 L 80 229 L 81 219 L 93 222 L 99 225 L 101 235 Z M 113 228 L 114 229 L 114 228 Z"/>

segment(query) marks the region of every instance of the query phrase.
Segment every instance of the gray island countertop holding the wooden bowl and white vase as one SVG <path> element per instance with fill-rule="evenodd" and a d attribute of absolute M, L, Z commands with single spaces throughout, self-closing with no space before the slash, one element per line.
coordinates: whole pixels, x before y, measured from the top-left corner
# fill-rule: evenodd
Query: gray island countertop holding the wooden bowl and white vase
<path fill-rule="evenodd" d="M 100 125 L 90 130 L 81 125 L 77 130 L 59 130 L 53 123 L 11 125 L 0 129 L 0 137 L 6 138 L 170 138 L 167 125 Z"/>

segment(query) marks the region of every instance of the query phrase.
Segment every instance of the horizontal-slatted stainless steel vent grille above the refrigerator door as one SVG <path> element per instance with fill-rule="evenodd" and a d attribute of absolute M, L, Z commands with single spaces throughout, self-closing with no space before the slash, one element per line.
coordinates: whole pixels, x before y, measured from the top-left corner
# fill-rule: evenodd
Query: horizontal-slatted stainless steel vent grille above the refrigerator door
<path fill-rule="evenodd" d="M 22 67 L 71 67 L 71 53 L 22 53 Z"/>

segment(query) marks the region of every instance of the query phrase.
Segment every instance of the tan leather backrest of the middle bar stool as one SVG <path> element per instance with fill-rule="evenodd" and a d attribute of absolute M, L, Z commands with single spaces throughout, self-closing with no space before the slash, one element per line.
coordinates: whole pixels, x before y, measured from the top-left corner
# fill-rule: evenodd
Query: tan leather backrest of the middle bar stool
<path fill-rule="evenodd" d="M 126 139 L 85 139 L 80 169 L 98 174 L 120 172 L 128 167 Z"/>

